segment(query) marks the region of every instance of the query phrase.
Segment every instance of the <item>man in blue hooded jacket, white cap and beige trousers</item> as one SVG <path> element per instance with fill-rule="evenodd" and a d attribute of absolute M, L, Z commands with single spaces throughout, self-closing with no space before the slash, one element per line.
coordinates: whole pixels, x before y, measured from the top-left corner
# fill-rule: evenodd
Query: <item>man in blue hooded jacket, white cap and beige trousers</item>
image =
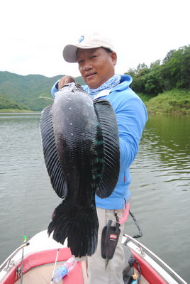
<path fill-rule="evenodd" d="M 116 223 L 117 213 L 121 219 L 130 197 L 130 165 L 138 153 L 143 129 L 147 121 L 145 105 L 129 85 L 129 75 L 115 74 L 117 62 L 116 51 L 110 40 L 98 33 L 82 35 L 78 43 L 66 45 L 63 58 L 67 62 L 77 62 L 79 71 L 86 82 L 83 86 L 93 99 L 104 97 L 116 112 L 121 151 L 121 171 L 118 184 L 110 197 L 101 199 L 96 196 L 96 209 L 99 218 L 98 248 L 93 256 L 88 257 L 89 284 L 121 284 L 123 283 L 124 253 L 121 244 L 124 224 L 120 226 L 121 234 L 113 258 L 106 267 L 101 257 L 101 234 L 108 220 Z M 74 82 L 70 76 L 62 77 L 52 87 L 52 96 L 65 84 Z"/>

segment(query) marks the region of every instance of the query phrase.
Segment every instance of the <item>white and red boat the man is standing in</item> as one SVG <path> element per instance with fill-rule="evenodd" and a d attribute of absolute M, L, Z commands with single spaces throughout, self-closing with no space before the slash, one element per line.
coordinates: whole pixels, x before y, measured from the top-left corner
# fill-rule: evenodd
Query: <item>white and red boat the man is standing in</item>
<path fill-rule="evenodd" d="M 187 284 L 166 263 L 130 236 L 123 236 L 123 249 L 125 251 L 125 268 L 123 269 L 125 284 L 131 283 L 131 275 L 133 273 L 138 275 L 140 271 L 141 284 Z M 30 244 L 18 248 L 1 264 L 0 283 L 22 283 L 21 278 L 25 284 L 52 283 L 53 271 L 71 256 L 67 242 L 64 245 L 58 244 L 52 236 L 47 236 L 46 230 L 42 231 L 30 239 Z M 129 266 L 129 258 L 134 260 L 133 267 Z M 86 284 L 86 261 L 78 261 L 72 271 L 69 271 L 59 283 Z"/>

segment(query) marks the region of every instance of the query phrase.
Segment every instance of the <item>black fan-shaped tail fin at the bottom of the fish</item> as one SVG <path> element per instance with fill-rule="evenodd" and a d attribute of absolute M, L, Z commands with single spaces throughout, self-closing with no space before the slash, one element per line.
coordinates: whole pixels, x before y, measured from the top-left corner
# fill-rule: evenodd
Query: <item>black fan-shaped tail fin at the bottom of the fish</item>
<path fill-rule="evenodd" d="M 99 221 L 96 207 L 72 208 L 65 200 L 55 208 L 47 233 L 53 231 L 53 239 L 67 246 L 76 257 L 91 256 L 96 251 Z"/>

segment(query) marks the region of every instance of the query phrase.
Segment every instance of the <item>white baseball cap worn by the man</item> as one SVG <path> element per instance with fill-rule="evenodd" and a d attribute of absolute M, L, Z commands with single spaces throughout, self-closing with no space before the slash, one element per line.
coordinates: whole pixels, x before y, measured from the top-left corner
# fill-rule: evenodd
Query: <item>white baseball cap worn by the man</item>
<path fill-rule="evenodd" d="M 81 35 L 76 44 L 66 45 L 63 49 L 62 55 L 65 61 L 67 62 L 77 62 L 77 49 L 89 49 L 89 48 L 108 48 L 111 51 L 114 51 L 111 40 L 105 38 L 99 33 L 89 33 Z"/>

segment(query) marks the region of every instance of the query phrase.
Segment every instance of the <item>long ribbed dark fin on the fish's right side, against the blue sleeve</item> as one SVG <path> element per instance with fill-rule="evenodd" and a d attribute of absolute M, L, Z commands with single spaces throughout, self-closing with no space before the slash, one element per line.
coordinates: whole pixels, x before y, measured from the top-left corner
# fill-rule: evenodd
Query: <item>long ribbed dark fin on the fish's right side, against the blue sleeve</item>
<path fill-rule="evenodd" d="M 116 114 L 108 100 L 96 99 L 94 109 L 101 125 L 104 141 L 104 168 L 96 194 L 101 198 L 106 198 L 115 189 L 120 171 L 118 124 Z"/>

